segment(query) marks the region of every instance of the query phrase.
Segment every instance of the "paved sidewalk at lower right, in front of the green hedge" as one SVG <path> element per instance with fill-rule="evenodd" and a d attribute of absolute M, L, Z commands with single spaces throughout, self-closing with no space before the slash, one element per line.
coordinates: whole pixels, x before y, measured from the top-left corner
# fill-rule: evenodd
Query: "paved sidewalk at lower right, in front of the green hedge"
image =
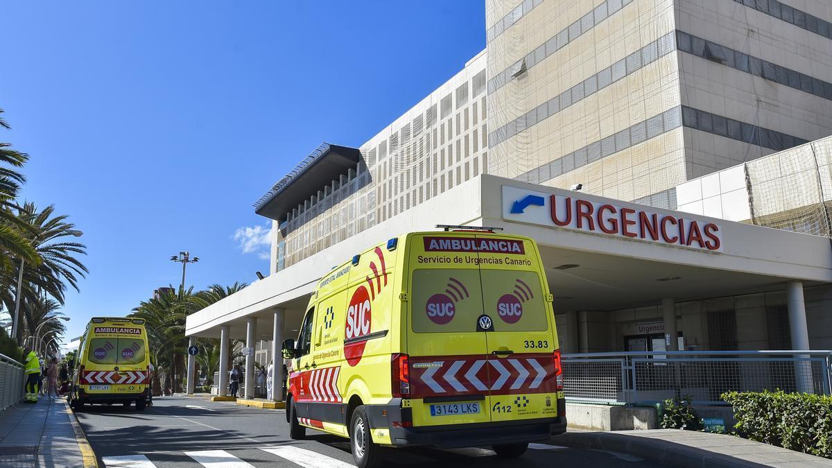
<path fill-rule="evenodd" d="M 832 467 L 832 460 L 735 436 L 675 429 L 592 432 L 570 429 L 552 443 L 582 449 L 618 451 L 666 466 L 759 468 Z"/>

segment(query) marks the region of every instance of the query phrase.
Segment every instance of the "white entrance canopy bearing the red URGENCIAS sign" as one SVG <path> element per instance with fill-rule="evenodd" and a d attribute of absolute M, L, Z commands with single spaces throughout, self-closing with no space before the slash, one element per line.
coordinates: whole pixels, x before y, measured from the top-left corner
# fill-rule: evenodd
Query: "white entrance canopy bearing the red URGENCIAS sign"
<path fill-rule="evenodd" d="M 272 337 L 275 307 L 294 337 L 321 276 L 390 236 L 437 224 L 502 227 L 540 247 L 555 310 L 614 311 L 832 282 L 825 237 L 636 205 L 511 179 L 480 176 L 319 251 L 187 318 L 187 336 Z"/>

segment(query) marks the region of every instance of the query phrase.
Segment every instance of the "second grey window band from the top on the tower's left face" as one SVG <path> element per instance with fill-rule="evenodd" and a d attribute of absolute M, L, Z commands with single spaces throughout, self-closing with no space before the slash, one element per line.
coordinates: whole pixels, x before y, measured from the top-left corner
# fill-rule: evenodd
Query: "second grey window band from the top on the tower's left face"
<path fill-rule="evenodd" d="M 488 80 L 488 94 L 497 91 L 511 81 L 513 77 L 531 69 L 538 62 L 542 62 L 546 57 L 566 47 L 569 42 L 574 41 L 585 32 L 596 27 L 600 22 L 621 11 L 623 7 L 626 7 L 631 2 L 632 0 L 607 0 L 598 5 L 591 12 L 588 12 L 576 22 L 573 22 L 568 27 L 563 28 L 561 32 L 549 38 L 540 47 L 529 52 L 526 57 L 518 60 L 511 67 L 506 68 L 503 72 L 497 73 L 496 76 Z"/>

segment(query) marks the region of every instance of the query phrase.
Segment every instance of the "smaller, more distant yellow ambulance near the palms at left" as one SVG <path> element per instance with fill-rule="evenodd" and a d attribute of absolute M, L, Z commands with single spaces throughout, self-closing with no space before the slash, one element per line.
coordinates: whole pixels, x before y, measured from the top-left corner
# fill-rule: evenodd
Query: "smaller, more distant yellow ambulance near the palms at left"
<path fill-rule="evenodd" d="M 78 348 L 69 402 L 77 411 L 87 403 L 121 403 L 143 411 L 150 400 L 150 355 L 145 321 L 92 317 Z"/>

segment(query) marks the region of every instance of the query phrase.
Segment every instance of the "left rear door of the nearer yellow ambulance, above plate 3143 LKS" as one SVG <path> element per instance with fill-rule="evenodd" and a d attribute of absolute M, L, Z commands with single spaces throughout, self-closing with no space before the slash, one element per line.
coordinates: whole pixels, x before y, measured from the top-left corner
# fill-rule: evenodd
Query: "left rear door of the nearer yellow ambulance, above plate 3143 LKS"
<path fill-rule="evenodd" d="M 409 238 L 410 405 L 414 426 L 491 421 L 479 256 L 470 232 Z"/>

